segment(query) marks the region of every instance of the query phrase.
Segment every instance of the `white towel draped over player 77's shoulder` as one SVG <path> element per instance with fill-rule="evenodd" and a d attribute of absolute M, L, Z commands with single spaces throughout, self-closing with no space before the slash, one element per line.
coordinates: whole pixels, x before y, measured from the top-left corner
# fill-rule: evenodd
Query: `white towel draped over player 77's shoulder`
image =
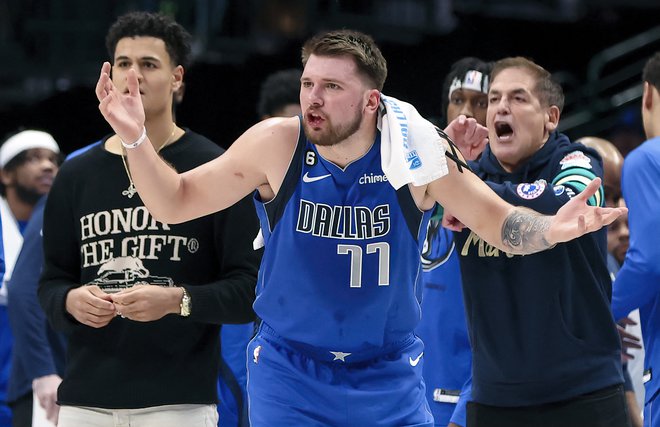
<path fill-rule="evenodd" d="M 446 146 L 433 123 L 407 102 L 380 99 L 381 163 L 392 186 L 421 186 L 447 175 Z"/>

